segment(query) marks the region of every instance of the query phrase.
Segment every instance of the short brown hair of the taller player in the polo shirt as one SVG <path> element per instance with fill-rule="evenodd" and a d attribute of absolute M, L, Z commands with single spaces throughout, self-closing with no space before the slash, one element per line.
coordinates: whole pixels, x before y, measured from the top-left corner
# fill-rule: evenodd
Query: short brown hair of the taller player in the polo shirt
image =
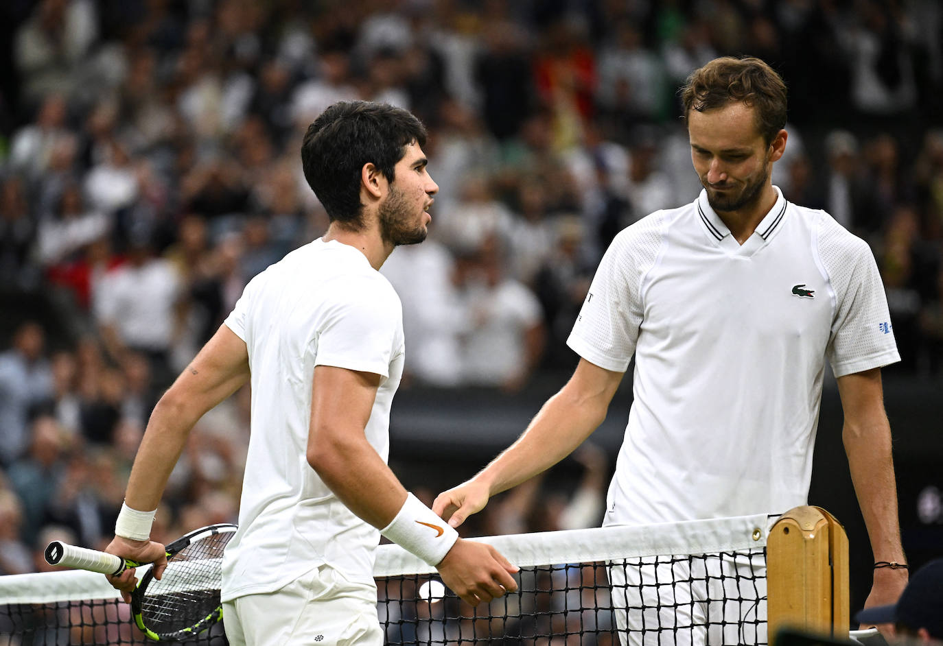
<path fill-rule="evenodd" d="M 753 57 L 720 57 L 695 70 L 681 89 L 685 119 L 742 102 L 756 108 L 756 127 L 767 143 L 786 127 L 786 83 L 769 65 Z"/>

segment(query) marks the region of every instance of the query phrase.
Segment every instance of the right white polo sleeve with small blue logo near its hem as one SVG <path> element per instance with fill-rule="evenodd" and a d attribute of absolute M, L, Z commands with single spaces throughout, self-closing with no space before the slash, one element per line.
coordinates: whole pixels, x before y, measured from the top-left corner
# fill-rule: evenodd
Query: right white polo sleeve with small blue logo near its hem
<path fill-rule="evenodd" d="M 835 318 L 826 348 L 835 377 L 901 361 L 884 284 L 868 243 L 827 230 L 819 253 L 835 290 Z"/>

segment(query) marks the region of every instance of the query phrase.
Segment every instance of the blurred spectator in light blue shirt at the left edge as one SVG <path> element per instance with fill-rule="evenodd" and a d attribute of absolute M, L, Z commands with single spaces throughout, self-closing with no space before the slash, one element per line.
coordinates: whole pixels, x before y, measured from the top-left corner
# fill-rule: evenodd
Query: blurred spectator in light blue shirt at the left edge
<path fill-rule="evenodd" d="M 52 372 L 43 356 L 45 332 L 27 321 L 13 334 L 13 344 L 0 354 L 0 465 L 8 466 L 29 442 L 29 416 L 34 406 L 52 395 Z"/>

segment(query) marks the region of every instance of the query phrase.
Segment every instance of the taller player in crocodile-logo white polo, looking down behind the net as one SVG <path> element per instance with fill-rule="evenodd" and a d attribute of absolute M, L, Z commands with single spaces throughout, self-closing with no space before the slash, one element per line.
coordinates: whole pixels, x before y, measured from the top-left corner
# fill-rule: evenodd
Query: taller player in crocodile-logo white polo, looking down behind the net
<path fill-rule="evenodd" d="M 489 496 L 567 456 L 604 420 L 633 355 L 634 401 L 604 525 L 805 505 L 827 360 L 874 558 L 902 563 L 880 370 L 900 357 L 873 255 L 771 184 L 788 136 L 786 85 L 769 65 L 718 58 L 691 74 L 682 99 L 700 196 L 616 237 L 568 340 L 580 355 L 571 380 L 517 442 L 433 509 L 460 525 Z M 905 569 L 875 569 L 868 605 L 893 603 L 906 581 Z M 695 625 L 707 611 L 685 607 Z M 620 619 L 637 642 L 642 622 L 659 619 L 641 614 Z M 727 638 L 706 629 L 690 637 Z"/>

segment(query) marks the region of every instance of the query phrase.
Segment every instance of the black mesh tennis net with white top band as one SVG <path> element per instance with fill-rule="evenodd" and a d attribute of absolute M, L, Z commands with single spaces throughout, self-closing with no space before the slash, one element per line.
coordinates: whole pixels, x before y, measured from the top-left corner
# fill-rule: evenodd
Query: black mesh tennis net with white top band
<path fill-rule="evenodd" d="M 472 607 L 435 569 L 381 545 L 389 644 L 767 644 L 766 515 L 475 539 L 521 568 L 520 589 Z M 0 646 L 145 644 L 100 574 L 0 577 Z M 223 626 L 189 642 L 223 646 Z"/>

